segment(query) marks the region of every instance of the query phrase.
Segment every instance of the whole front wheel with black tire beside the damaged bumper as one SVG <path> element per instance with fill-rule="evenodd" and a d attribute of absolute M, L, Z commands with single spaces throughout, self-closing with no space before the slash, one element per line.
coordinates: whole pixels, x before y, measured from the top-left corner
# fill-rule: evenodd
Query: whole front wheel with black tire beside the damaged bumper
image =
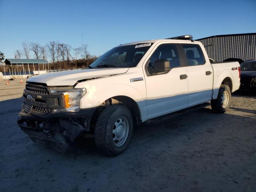
<path fill-rule="evenodd" d="M 124 106 L 107 106 L 96 122 L 94 142 L 106 156 L 117 156 L 126 150 L 132 137 L 133 120 Z"/>

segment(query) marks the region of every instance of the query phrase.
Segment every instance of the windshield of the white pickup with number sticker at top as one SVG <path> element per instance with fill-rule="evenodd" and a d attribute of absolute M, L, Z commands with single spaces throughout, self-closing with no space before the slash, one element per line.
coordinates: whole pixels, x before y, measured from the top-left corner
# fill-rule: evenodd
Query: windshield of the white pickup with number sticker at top
<path fill-rule="evenodd" d="M 100 56 L 89 67 L 136 67 L 152 43 L 118 46 Z"/>

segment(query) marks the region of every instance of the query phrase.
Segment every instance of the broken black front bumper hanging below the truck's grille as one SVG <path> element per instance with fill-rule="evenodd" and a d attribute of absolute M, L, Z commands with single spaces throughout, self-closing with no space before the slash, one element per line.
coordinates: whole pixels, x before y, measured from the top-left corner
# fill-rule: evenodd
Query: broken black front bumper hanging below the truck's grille
<path fill-rule="evenodd" d="M 18 126 L 33 142 L 49 146 L 60 152 L 71 149 L 72 142 L 86 130 L 70 119 L 18 119 Z"/>

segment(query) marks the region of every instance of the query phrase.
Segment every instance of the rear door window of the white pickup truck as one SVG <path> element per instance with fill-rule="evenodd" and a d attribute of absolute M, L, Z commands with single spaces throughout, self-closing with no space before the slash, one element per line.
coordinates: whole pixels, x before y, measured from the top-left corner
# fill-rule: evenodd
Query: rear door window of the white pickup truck
<path fill-rule="evenodd" d="M 188 66 L 203 65 L 205 63 L 202 49 L 197 44 L 182 44 Z"/>

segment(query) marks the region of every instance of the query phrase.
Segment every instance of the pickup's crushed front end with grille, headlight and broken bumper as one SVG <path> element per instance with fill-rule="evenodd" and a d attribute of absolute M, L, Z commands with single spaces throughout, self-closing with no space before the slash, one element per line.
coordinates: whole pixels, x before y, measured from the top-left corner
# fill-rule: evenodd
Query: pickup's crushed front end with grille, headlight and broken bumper
<path fill-rule="evenodd" d="M 83 132 L 90 131 L 94 109 L 80 109 L 84 90 L 28 82 L 18 126 L 35 142 L 66 152 Z"/>

